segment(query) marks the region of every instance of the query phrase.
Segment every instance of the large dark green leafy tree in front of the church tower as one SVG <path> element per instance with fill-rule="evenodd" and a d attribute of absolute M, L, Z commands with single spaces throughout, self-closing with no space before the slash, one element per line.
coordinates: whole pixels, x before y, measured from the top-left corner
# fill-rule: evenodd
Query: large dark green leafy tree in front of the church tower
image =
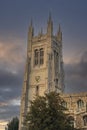
<path fill-rule="evenodd" d="M 38 96 L 31 101 L 24 125 L 29 130 L 71 130 L 62 102 L 56 92 Z"/>

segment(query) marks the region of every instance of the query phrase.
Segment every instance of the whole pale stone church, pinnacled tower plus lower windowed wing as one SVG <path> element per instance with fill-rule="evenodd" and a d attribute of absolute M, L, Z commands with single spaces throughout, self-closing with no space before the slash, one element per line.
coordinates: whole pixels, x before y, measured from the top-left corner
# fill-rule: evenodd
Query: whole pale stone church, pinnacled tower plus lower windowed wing
<path fill-rule="evenodd" d="M 46 34 L 41 30 L 35 36 L 32 21 L 29 26 L 19 130 L 25 129 L 23 122 L 29 111 L 29 101 L 51 91 L 60 93 L 64 98 L 63 105 L 68 108 L 66 112 L 71 125 L 87 129 L 87 94 L 64 94 L 62 32 L 59 25 L 57 33 L 53 34 L 53 21 L 49 15 Z"/>

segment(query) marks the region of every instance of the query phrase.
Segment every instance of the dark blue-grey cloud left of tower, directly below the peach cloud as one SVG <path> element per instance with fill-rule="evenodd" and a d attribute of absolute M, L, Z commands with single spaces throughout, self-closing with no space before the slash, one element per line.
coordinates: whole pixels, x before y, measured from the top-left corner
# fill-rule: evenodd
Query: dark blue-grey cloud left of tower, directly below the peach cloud
<path fill-rule="evenodd" d="M 12 73 L 0 70 L 0 100 L 5 101 L 21 94 L 23 71 Z"/>

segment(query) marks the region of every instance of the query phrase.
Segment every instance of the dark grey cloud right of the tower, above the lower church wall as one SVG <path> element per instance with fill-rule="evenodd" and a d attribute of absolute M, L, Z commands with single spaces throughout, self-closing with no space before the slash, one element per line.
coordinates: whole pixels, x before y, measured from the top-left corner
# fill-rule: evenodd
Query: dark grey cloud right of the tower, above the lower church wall
<path fill-rule="evenodd" d="M 81 56 L 79 62 L 65 65 L 65 77 L 65 92 L 87 91 L 87 51 Z"/>

